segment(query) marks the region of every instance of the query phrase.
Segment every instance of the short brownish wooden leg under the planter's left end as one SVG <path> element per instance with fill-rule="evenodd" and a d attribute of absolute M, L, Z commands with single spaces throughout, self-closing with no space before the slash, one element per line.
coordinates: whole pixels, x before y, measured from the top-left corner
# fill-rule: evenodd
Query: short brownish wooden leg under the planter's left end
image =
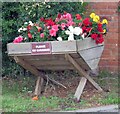
<path fill-rule="evenodd" d="M 43 81 L 44 81 L 44 79 L 41 78 L 40 76 L 38 76 L 34 95 L 36 95 L 36 96 L 40 96 L 41 95 Z"/>

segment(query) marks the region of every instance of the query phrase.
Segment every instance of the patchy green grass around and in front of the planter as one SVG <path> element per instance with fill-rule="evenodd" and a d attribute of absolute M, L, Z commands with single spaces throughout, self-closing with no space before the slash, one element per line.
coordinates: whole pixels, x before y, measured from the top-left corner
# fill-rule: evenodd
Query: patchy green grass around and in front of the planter
<path fill-rule="evenodd" d="M 19 77 L 17 79 L 3 79 L 2 109 L 4 112 L 49 112 L 70 111 L 98 105 L 118 104 L 118 77 L 109 73 L 101 73 L 97 82 L 103 87 L 109 87 L 110 92 L 96 93 L 90 98 L 81 98 L 81 102 L 73 100 L 73 93 L 65 98 L 58 96 L 42 96 L 33 101 L 30 96 L 34 91 L 35 80 L 32 77 Z"/>

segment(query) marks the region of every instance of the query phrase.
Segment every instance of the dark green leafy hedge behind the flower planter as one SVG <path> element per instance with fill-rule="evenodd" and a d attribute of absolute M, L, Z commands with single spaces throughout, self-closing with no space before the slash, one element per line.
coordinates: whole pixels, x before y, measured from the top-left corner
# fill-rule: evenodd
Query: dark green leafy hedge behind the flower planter
<path fill-rule="evenodd" d="M 7 43 L 18 36 L 18 29 L 26 21 L 36 22 L 40 17 L 53 17 L 58 12 L 80 13 L 84 15 L 87 3 L 80 2 L 3 2 L 2 3 L 2 52 L 3 74 L 14 73 L 14 61 L 7 56 Z M 17 67 L 18 71 L 20 70 Z M 10 71 L 10 72 L 9 72 Z M 17 72 L 17 71 L 16 71 Z"/>

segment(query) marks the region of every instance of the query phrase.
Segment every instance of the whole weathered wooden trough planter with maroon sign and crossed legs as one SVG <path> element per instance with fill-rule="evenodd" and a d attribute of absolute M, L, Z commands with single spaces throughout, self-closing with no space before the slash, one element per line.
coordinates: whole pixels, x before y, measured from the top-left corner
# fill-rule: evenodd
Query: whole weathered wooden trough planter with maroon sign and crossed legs
<path fill-rule="evenodd" d="M 75 98 L 80 99 L 87 80 L 99 91 L 102 88 L 89 76 L 88 71 L 96 69 L 104 49 L 103 44 L 97 45 L 91 38 L 79 41 L 48 41 L 9 43 L 8 55 L 19 65 L 38 77 L 35 95 L 41 94 L 44 80 L 49 79 L 64 88 L 64 85 L 46 77 L 43 70 L 77 70 L 82 76 L 75 92 Z"/>

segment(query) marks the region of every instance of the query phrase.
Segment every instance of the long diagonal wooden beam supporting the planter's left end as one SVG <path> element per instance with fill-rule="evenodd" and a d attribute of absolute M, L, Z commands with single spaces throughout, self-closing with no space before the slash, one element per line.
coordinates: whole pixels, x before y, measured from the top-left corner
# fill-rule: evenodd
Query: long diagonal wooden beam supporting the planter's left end
<path fill-rule="evenodd" d="M 63 84 L 49 78 L 48 76 L 44 75 L 42 72 L 40 72 L 36 67 L 30 65 L 29 63 L 27 63 L 25 60 L 15 56 L 14 57 L 16 63 L 18 63 L 19 65 L 21 65 L 23 68 L 25 68 L 26 70 L 29 70 L 32 74 L 34 74 L 35 76 L 41 76 L 42 78 L 44 78 L 45 80 L 49 80 L 51 81 L 52 83 L 58 85 L 58 86 L 61 86 L 63 88 L 67 88 L 65 87 Z"/>

